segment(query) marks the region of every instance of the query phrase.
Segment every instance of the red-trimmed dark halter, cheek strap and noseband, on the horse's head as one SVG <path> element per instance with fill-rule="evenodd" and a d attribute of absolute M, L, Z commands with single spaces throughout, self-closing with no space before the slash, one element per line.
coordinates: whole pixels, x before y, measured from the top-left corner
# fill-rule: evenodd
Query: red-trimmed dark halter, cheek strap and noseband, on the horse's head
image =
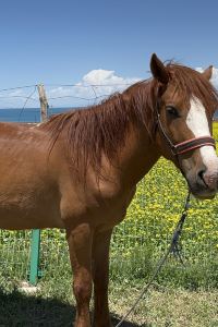
<path fill-rule="evenodd" d="M 160 113 L 159 113 L 159 100 L 156 102 L 156 116 L 157 116 L 157 124 L 159 130 L 161 131 L 162 135 L 165 136 L 165 140 L 167 141 L 168 145 L 170 146 L 171 153 L 173 156 L 175 156 L 179 160 L 179 155 L 186 154 L 191 150 L 194 150 L 196 148 L 199 148 L 202 146 L 213 146 L 216 148 L 215 140 L 210 135 L 199 136 L 186 140 L 184 142 L 173 144 L 170 137 L 167 135 L 161 120 L 160 120 Z"/>

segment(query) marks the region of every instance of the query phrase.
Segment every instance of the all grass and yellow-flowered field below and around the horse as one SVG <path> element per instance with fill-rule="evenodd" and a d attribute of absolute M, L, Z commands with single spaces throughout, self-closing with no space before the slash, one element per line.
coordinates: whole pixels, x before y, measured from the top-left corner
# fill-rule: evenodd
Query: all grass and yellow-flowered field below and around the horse
<path fill-rule="evenodd" d="M 218 140 L 218 123 L 214 123 L 214 135 Z M 149 280 L 155 265 L 170 242 L 185 196 L 184 179 L 165 159 L 160 159 L 140 182 L 128 216 L 116 228 L 112 238 L 110 301 L 113 312 L 124 314 Z M 28 274 L 29 234 L 31 232 L 10 231 L 1 231 L 0 234 L 0 301 L 1 304 L 4 303 L 1 310 L 7 313 L 3 315 L 0 312 L 0 325 L 70 326 L 72 316 L 69 303 L 74 300 L 63 231 L 50 230 L 41 233 L 43 278 L 37 293 L 28 298 L 17 291 L 20 280 L 26 279 Z M 192 198 L 181 245 L 185 266 L 171 255 L 147 300 L 142 301 L 130 318 L 132 324 L 126 326 L 218 326 L 215 305 L 218 298 L 217 197 L 204 202 Z M 29 305 L 28 313 L 22 315 L 23 301 Z M 44 316 L 45 323 L 39 322 L 43 318 L 38 312 L 35 325 L 28 324 L 33 318 L 31 310 L 36 310 L 37 305 L 47 315 Z M 65 320 L 60 323 L 63 313 Z M 9 317 L 7 323 L 3 316 Z"/>

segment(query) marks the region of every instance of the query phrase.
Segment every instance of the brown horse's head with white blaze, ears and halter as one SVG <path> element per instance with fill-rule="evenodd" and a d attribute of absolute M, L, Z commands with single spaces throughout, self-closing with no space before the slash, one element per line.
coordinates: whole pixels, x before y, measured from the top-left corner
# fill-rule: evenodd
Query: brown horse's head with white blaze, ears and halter
<path fill-rule="evenodd" d="M 213 66 L 203 73 L 179 64 L 150 60 L 157 84 L 156 141 L 161 154 L 185 177 L 191 192 L 210 198 L 218 189 L 218 158 L 211 137 L 218 95 L 209 83 Z"/>

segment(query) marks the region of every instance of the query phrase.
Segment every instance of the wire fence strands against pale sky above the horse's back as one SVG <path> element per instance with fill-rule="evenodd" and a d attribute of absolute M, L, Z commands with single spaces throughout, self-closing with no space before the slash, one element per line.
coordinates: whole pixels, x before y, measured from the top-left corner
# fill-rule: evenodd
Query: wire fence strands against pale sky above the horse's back
<path fill-rule="evenodd" d="M 74 108 L 95 105 L 116 92 L 129 87 L 130 83 L 110 84 L 45 84 L 50 111 L 52 108 Z M 37 85 L 0 89 L 0 109 L 39 108 Z"/>

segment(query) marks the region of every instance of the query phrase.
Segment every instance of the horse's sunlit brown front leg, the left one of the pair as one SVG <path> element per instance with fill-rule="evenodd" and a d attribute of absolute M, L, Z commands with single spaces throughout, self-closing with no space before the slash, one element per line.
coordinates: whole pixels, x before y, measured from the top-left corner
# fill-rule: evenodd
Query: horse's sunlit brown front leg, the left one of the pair
<path fill-rule="evenodd" d="M 76 300 L 75 327 L 90 327 L 93 231 L 88 223 L 66 228 L 66 239 L 73 269 L 73 292 Z"/>

